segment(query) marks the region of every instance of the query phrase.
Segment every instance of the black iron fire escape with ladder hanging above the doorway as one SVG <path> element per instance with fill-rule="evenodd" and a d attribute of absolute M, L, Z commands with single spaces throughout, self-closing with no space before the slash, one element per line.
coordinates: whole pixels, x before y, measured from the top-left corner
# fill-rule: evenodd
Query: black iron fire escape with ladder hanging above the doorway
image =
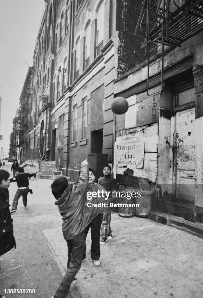
<path fill-rule="evenodd" d="M 203 0 L 143 0 L 135 28 L 135 35 L 144 37 L 141 48 L 147 56 L 147 95 L 162 92 L 164 75 L 164 50 L 177 47 L 203 30 Z M 157 59 L 159 60 L 157 60 Z M 160 63 L 160 72 L 151 76 L 154 64 Z M 161 91 L 149 94 L 150 81 L 157 78 Z"/>

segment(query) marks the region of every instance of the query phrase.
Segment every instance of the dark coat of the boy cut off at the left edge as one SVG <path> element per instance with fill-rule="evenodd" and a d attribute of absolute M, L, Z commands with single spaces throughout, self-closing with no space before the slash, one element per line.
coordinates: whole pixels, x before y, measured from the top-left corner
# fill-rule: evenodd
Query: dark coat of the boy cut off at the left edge
<path fill-rule="evenodd" d="M 13 236 L 13 220 L 9 211 L 9 192 L 7 189 L 0 189 L 0 255 L 16 248 L 16 241 Z"/>

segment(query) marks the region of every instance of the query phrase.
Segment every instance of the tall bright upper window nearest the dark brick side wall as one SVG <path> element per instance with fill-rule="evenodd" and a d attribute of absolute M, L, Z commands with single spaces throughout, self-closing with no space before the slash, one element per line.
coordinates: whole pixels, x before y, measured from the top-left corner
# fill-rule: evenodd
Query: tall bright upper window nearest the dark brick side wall
<path fill-rule="evenodd" d="M 96 26 L 96 56 L 101 53 L 103 48 L 104 38 L 104 2 L 99 6 L 97 11 L 97 26 Z"/>

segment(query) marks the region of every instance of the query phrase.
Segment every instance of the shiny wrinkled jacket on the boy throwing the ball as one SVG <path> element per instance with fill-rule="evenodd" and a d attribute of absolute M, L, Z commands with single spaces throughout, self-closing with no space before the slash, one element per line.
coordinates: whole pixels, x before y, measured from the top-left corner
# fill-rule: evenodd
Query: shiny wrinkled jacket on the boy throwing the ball
<path fill-rule="evenodd" d="M 87 165 L 81 165 L 79 181 L 74 183 L 70 189 L 68 186 L 62 196 L 56 201 L 60 214 L 63 217 L 62 231 L 65 240 L 70 240 L 79 235 L 92 219 L 103 211 L 102 208 L 87 207 L 87 203 L 107 202 L 105 197 L 86 199 L 86 187 L 88 184 Z M 104 189 L 99 186 L 100 189 Z M 93 191 L 97 187 L 92 188 Z M 105 190 L 105 189 L 104 189 Z"/>

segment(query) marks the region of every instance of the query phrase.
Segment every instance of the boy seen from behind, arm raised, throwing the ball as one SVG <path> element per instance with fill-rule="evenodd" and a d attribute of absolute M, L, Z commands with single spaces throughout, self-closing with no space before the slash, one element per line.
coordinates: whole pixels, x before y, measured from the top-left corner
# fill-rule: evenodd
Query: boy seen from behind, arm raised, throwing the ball
<path fill-rule="evenodd" d="M 98 198 L 86 197 L 88 184 L 88 163 L 81 163 L 79 181 L 69 184 L 66 177 L 57 178 L 51 185 L 55 196 L 55 205 L 63 218 L 62 231 L 68 246 L 67 272 L 52 298 L 66 298 L 72 281 L 79 271 L 85 251 L 85 229 L 92 220 L 101 213 L 102 209 L 91 205 L 98 203 Z M 102 188 L 103 189 L 103 188 Z M 98 188 L 94 189 L 95 191 Z M 107 203 L 101 197 L 100 202 Z"/>

